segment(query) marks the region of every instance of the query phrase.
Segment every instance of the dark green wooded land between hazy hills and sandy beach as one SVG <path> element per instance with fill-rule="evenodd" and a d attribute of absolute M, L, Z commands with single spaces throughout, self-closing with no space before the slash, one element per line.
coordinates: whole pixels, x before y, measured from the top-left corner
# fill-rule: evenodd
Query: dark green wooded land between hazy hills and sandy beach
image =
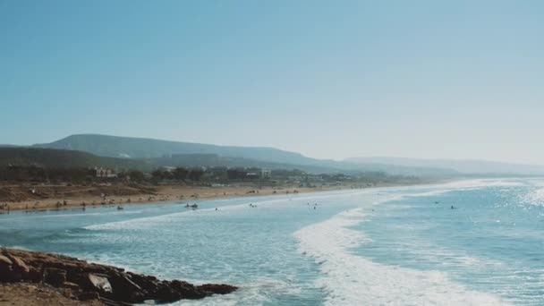
<path fill-rule="evenodd" d="M 184 156 L 176 158 L 165 157 L 158 160 L 165 163 L 170 161 L 174 164 L 175 160 L 179 161 Z M 205 162 L 209 158 L 216 161 L 222 160 L 211 155 L 191 155 L 190 158 L 200 159 L 200 162 Z M 248 160 L 243 159 L 243 161 Z M 105 181 L 133 183 L 259 182 L 259 184 L 268 185 L 289 183 L 306 187 L 345 183 L 357 185 L 421 182 L 419 178 L 414 176 L 391 175 L 379 171 L 343 173 L 327 169 L 327 172 L 316 174 L 304 169 L 298 169 L 296 166 L 272 163 L 261 164 L 273 166 L 274 168 L 271 172 L 268 170 L 263 171 L 262 166 L 256 166 L 259 165 L 257 161 L 249 163 L 249 165 L 255 166 L 158 166 L 160 163 L 157 162 L 157 159 L 137 160 L 97 157 L 89 153 L 60 149 L 0 148 L 0 181 L 47 183 Z M 108 175 L 101 175 L 100 170 L 106 170 Z"/>

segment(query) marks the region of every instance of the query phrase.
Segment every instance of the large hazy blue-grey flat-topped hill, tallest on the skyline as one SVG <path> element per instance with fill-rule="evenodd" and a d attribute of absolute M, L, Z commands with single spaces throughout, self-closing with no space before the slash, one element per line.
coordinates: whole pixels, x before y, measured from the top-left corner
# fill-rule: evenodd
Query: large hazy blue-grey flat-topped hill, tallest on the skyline
<path fill-rule="evenodd" d="M 455 171 L 429 166 L 354 164 L 304 157 L 299 153 L 273 148 L 217 146 L 97 134 L 72 135 L 35 147 L 80 150 L 102 157 L 145 158 L 154 166 L 264 166 L 273 169 L 299 168 L 311 173 L 380 171 L 433 177 L 456 175 Z"/>

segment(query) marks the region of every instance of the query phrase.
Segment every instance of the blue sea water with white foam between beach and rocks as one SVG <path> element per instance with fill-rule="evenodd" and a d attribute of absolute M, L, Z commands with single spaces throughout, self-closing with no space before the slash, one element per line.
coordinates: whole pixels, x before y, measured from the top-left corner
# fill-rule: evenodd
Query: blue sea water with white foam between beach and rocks
<path fill-rule="evenodd" d="M 196 202 L 12 213 L 0 245 L 240 287 L 179 305 L 544 304 L 544 180 Z"/>

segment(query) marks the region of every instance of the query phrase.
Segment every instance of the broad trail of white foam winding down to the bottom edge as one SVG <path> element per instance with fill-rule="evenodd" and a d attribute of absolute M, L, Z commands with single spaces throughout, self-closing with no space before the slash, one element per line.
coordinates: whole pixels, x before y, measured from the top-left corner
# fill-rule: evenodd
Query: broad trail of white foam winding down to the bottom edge
<path fill-rule="evenodd" d="M 472 291 L 438 271 L 386 266 L 355 256 L 350 248 L 367 242 L 349 229 L 364 219 L 363 208 L 336 215 L 296 232 L 300 251 L 320 265 L 318 286 L 326 305 L 500 305 L 496 295 Z"/>

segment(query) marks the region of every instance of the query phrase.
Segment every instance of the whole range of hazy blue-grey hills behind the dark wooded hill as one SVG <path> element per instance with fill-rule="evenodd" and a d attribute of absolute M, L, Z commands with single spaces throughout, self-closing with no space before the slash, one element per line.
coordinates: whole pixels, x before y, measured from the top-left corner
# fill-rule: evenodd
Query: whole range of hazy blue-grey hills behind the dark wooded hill
<path fill-rule="evenodd" d="M 480 160 L 353 157 L 336 161 L 305 157 L 300 153 L 274 148 L 217 146 L 100 134 L 72 135 L 51 143 L 35 144 L 30 148 L 81 151 L 89 156 L 109 158 L 108 165 L 116 161 L 123 166 L 144 168 L 149 166 L 266 166 L 299 168 L 311 173 L 380 171 L 387 174 L 427 177 L 544 174 L 544 166 Z M 83 159 L 93 160 L 94 157 L 89 156 Z"/>

